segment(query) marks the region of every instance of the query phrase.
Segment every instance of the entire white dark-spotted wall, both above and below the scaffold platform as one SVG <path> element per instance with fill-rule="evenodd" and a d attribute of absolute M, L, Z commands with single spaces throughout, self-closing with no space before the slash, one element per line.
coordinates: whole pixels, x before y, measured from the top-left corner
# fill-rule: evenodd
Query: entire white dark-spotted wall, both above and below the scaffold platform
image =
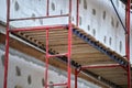
<path fill-rule="evenodd" d="M 0 0 L 0 20 L 6 22 L 7 0 Z M 113 0 L 124 23 L 124 4 L 120 0 Z M 68 13 L 68 0 L 50 0 L 50 15 L 59 15 Z M 73 0 L 72 21 L 76 24 L 76 0 Z M 46 0 L 11 0 L 11 19 L 14 18 L 34 18 L 46 16 Z M 131 21 L 132 22 L 132 21 Z M 52 24 L 67 24 L 68 18 L 40 19 L 30 21 L 11 22 L 13 26 L 38 26 Z M 124 30 L 116 15 L 110 0 L 79 0 L 79 28 L 88 34 L 95 36 L 98 41 L 125 55 Z M 132 28 L 132 23 L 131 23 Z M 1 38 L 1 37 L 0 37 Z M 131 29 L 131 62 L 132 62 L 132 29 Z M 3 77 L 3 50 L 0 50 L 0 77 Z M 10 72 L 8 88 L 43 88 L 44 68 L 31 62 L 24 61 L 23 57 L 10 54 Z M 64 81 L 65 76 L 50 70 L 51 82 Z M 54 75 L 53 75 L 54 74 Z M 55 77 L 56 76 L 56 77 Z M 57 79 L 58 78 L 58 79 Z M 2 88 L 2 78 L 0 78 L 0 88 Z M 62 79 L 62 80 L 61 80 Z M 18 81 L 19 80 L 19 81 Z M 37 81 L 36 81 L 37 80 Z M 87 82 L 88 84 L 88 82 Z M 96 86 L 86 86 L 79 84 L 78 88 L 96 88 Z M 19 88 L 21 88 L 19 87 Z M 52 88 L 52 87 L 51 87 Z M 73 86 L 74 88 L 74 86 Z"/>

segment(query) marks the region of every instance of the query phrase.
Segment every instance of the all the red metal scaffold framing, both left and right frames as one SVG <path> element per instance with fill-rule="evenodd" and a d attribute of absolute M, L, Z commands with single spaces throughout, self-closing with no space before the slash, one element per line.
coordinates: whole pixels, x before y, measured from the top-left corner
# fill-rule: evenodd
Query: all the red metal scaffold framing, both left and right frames
<path fill-rule="evenodd" d="M 7 88 L 8 85 L 8 69 L 9 69 L 9 34 L 11 32 L 22 32 L 22 31 L 41 31 L 45 30 L 46 31 L 46 69 L 45 69 L 45 88 L 48 88 L 48 86 L 66 86 L 67 88 L 70 88 L 70 73 L 72 73 L 72 32 L 73 32 L 73 24 L 72 24 L 72 0 L 69 0 L 69 12 L 68 14 L 62 14 L 62 15 L 50 15 L 48 8 L 50 8 L 50 0 L 47 0 L 47 6 L 46 6 L 46 16 L 37 16 L 37 18 L 21 18 L 21 19 L 10 19 L 10 0 L 7 0 L 7 38 L 6 38 L 6 61 L 4 61 L 4 82 L 3 82 L 3 88 Z M 77 88 L 77 77 L 78 74 L 88 68 L 113 68 L 113 67 L 123 67 L 123 69 L 127 70 L 128 73 L 128 88 L 131 88 L 131 66 L 130 66 L 130 3 L 131 1 L 128 0 L 125 3 L 125 26 L 123 28 L 125 31 L 125 54 L 129 64 L 125 66 L 122 66 L 121 64 L 110 64 L 110 65 L 100 65 L 100 66 L 79 66 L 75 68 L 75 88 Z M 77 0 L 77 15 L 76 15 L 76 25 L 78 26 L 79 24 L 79 0 Z M 33 26 L 33 28 L 15 28 L 12 30 L 10 28 L 10 22 L 11 21 L 24 21 L 24 20 L 33 20 L 33 19 L 47 19 L 47 18 L 59 18 L 59 16 L 68 16 L 68 24 L 64 25 L 46 25 L 46 26 Z M 118 15 L 119 16 L 119 15 Z M 120 16 L 119 16 L 120 19 Z M 121 20 L 120 20 L 121 21 Z M 121 22 L 122 24 L 122 22 Z M 48 52 L 48 32 L 50 30 L 56 30 L 56 29 L 67 29 L 68 30 L 68 48 L 67 53 L 64 54 L 56 54 L 56 55 L 51 55 Z M 67 57 L 67 82 L 64 84 L 48 84 L 48 59 L 51 57 L 59 57 L 59 56 L 66 56 Z"/>

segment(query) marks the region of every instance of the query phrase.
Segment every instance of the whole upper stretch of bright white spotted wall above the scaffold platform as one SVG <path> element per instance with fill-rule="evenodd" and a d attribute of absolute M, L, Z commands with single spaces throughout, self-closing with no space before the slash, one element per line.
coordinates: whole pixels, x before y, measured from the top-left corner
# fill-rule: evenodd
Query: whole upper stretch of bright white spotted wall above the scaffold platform
<path fill-rule="evenodd" d="M 119 0 L 113 1 L 122 21 L 124 22 L 124 4 Z M 0 20 L 6 21 L 6 0 L 0 0 L 0 7 L 2 7 L 0 8 Z M 124 56 L 124 30 L 122 29 L 122 25 L 116 15 L 110 0 L 80 0 L 79 7 L 79 16 L 81 20 L 81 22 L 79 22 L 81 23 L 79 26 L 106 44 L 108 47 L 117 51 L 122 56 Z M 66 13 L 68 13 L 68 0 L 50 0 L 50 15 Z M 46 0 L 11 0 L 11 18 L 28 18 L 40 15 L 46 15 Z M 57 18 L 46 20 L 19 21 L 12 22 L 11 24 L 15 26 L 36 26 L 56 23 L 67 24 L 67 18 Z M 76 0 L 73 0 L 73 23 L 76 23 Z"/>

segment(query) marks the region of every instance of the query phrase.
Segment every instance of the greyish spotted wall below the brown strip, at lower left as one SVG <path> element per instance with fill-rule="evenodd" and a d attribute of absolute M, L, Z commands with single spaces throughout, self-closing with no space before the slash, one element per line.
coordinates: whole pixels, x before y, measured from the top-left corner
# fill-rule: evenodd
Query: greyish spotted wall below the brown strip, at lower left
<path fill-rule="evenodd" d="M 3 86 L 3 63 L 2 58 L 4 56 L 3 45 L 0 45 L 0 88 Z M 43 87 L 43 78 L 44 78 L 44 69 L 42 62 L 34 61 L 33 57 L 28 56 L 25 54 L 19 53 L 15 50 L 10 48 L 10 58 L 9 58 L 9 75 L 8 75 L 8 88 L 44 88 Z M 31 59 L 29 62 L 29 59 Z M 16 69 L 19 68 L 21 75 L 18 75 Z M 48 70 L 48 82 L 66 82 L 67 77 L 65 76 L 66 72 L 58 70 L 55 67 L 50 68 Z M 29 84 L 29 76 L 31 76 L 31 84 Z M 18 86 L 18 87 L 15 87 Z M 52 88 L 52 87 L 51 87 Z M 64 88 L 64 87 L 54 87 L 54 88 Z M 72 88 L 74 87 L 74 79 L 72 79 Z M 79 78 L 78 88 L 99 88 L 98 86 L 82 80 Z"/>

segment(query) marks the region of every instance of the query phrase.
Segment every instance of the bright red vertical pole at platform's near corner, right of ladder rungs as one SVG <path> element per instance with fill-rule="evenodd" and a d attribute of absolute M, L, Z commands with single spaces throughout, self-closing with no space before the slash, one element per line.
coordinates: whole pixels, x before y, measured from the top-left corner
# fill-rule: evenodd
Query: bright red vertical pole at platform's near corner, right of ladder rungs
<path fill-rule="evenodd" d="M 67 86 L 70 88 L 70 57 L 72 57 L 72 0 L 69 0 L 69 21 L 68 21 L 68 63 L 67 63 L 67 70 L 68 70 L 68 82 Z"/>

